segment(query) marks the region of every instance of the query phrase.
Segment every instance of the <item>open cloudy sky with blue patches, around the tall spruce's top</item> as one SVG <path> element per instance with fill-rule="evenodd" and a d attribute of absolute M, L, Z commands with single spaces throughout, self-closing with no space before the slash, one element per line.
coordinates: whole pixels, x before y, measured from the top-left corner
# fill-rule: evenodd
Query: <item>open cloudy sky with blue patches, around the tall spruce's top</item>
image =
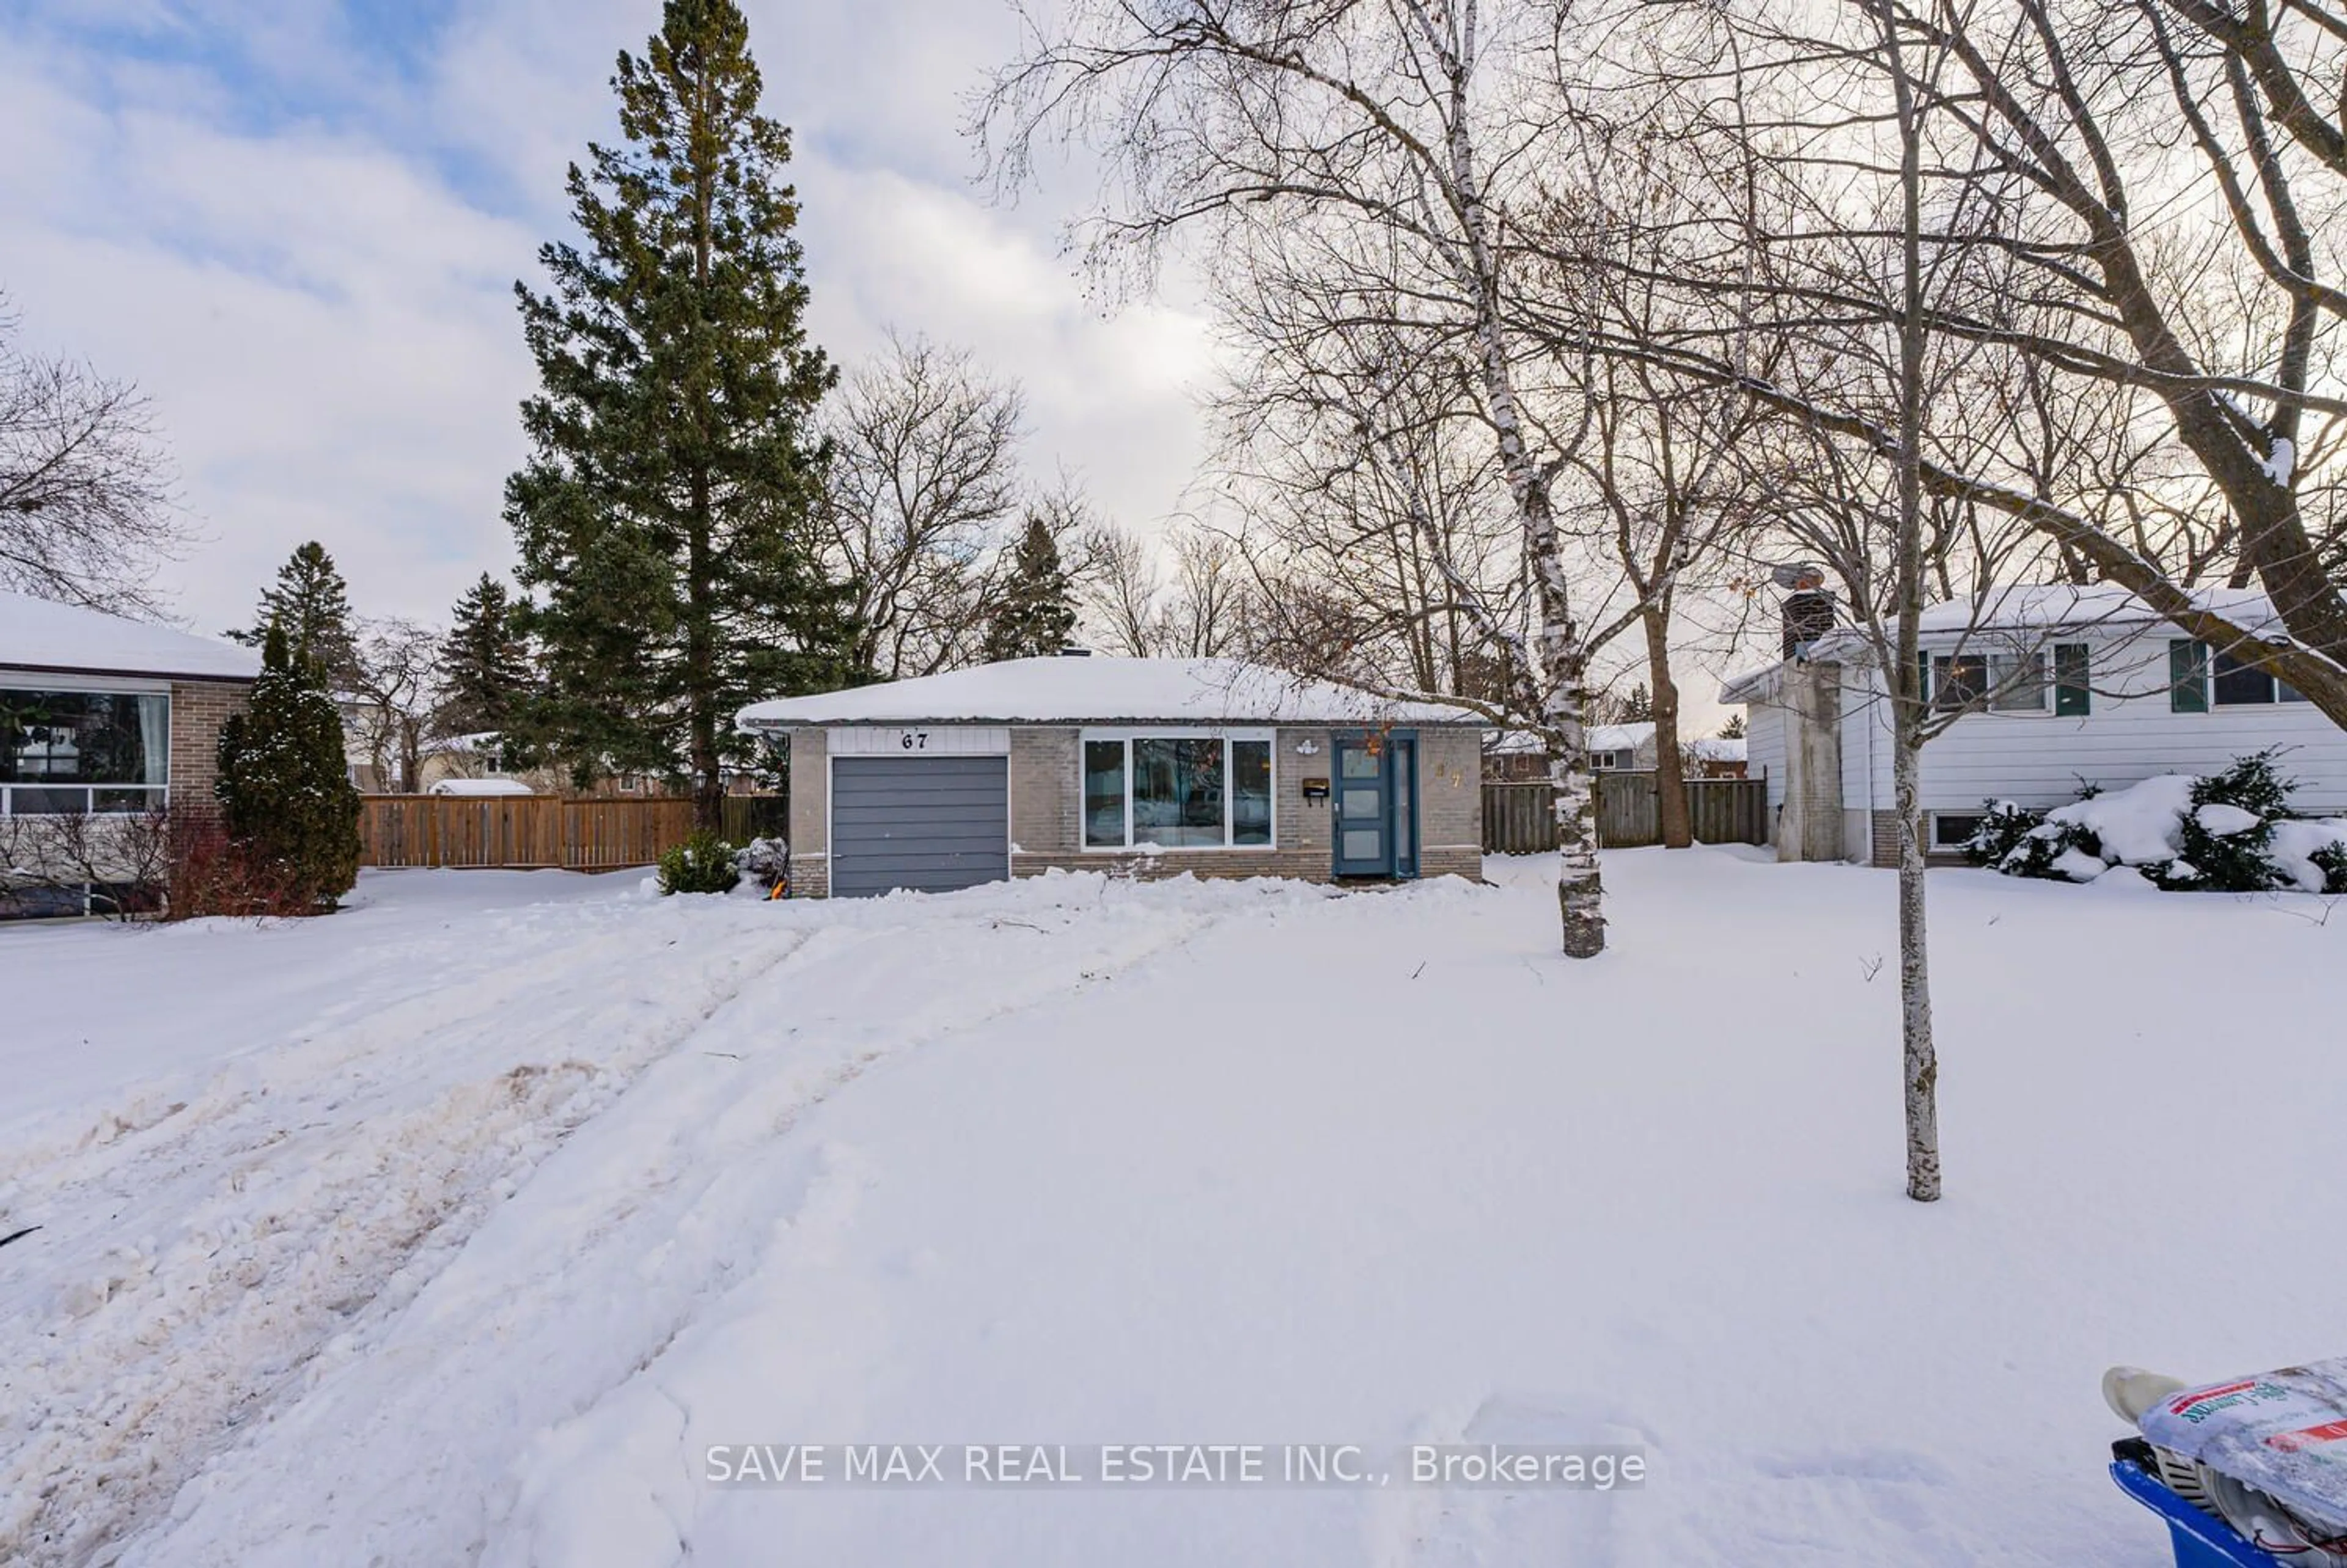
<path fill-rule="evenodd" d="M 1026 383 L 1030 460 L 1115 516 L 1176 509 L 1204 319 L 1105 315 L 1061 256 L 1075 178 L 990 204 L 962 96 L 997 0 L 746 0 L 796 131 L 814 338 L 890 329 Z M 615 136 L 617 49 L 657 0 L 0 0 L 0 291 L 31 347 L 153 399 L 202 542 L 171 570 L 239 624 L 324 540 L 368 615 L 441 620 L 512 545 L 530 390 L 512 284 L 568 228 L 563 167 Z"/>

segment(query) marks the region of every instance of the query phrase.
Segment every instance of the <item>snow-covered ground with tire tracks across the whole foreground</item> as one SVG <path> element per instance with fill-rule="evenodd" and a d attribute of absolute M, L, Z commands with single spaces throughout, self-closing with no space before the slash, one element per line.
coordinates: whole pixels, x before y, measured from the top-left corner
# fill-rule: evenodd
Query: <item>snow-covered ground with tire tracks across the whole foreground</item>
<path fill-rule="evenodd" d="M 2110 1361 L 2335 1354 L 2347 913 L 371 873 L 0 930 L 0 1561 L 2124 1563 Z M 739 1491 L 711 1444 L 1626 1441 L 1643 1491 Z"/>

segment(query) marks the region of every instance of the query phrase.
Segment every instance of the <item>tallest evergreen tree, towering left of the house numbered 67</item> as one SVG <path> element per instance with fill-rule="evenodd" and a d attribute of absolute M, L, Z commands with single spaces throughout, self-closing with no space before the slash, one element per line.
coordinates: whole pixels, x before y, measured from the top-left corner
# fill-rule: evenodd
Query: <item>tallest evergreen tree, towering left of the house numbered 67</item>
<path fill-rule="evenodd" d="M 622 146 L 570 167 L 584 249 L 540 251 L 552 293 L 516 284 L 540 394 L 505 512 L 545 589 L 533 728 L 580 775 L 692 775 L 713 829 L 746 756 L 732 711 L 850 678 L 812 535 L 836 371 L 803 326 L 791 138 L 758 113 L 742 9 L 667 0 L 613 89 Z"/>

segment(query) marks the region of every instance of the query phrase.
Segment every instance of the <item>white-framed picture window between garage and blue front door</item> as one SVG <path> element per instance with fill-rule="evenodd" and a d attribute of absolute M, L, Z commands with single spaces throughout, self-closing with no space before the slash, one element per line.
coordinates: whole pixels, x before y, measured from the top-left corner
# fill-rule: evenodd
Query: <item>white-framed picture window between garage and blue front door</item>
<path fill-rule="evenodd" d="M 1084 847 L 1232 850 L 1272 843 L 1272 739 L 1084 737 Z"/>

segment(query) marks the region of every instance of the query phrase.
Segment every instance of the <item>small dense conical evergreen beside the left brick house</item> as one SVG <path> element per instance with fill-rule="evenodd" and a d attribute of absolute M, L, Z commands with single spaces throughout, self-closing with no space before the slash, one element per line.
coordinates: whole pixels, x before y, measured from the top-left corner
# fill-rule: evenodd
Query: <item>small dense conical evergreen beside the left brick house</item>
<path fill-rule="evenodd" d="M 333 908 L 359 880 L 359 791 L 343 716 L 284 627 L 263 634 L 251 702 L 221 725 L 214 793 L 230 843 L 296 908 Z"/>

